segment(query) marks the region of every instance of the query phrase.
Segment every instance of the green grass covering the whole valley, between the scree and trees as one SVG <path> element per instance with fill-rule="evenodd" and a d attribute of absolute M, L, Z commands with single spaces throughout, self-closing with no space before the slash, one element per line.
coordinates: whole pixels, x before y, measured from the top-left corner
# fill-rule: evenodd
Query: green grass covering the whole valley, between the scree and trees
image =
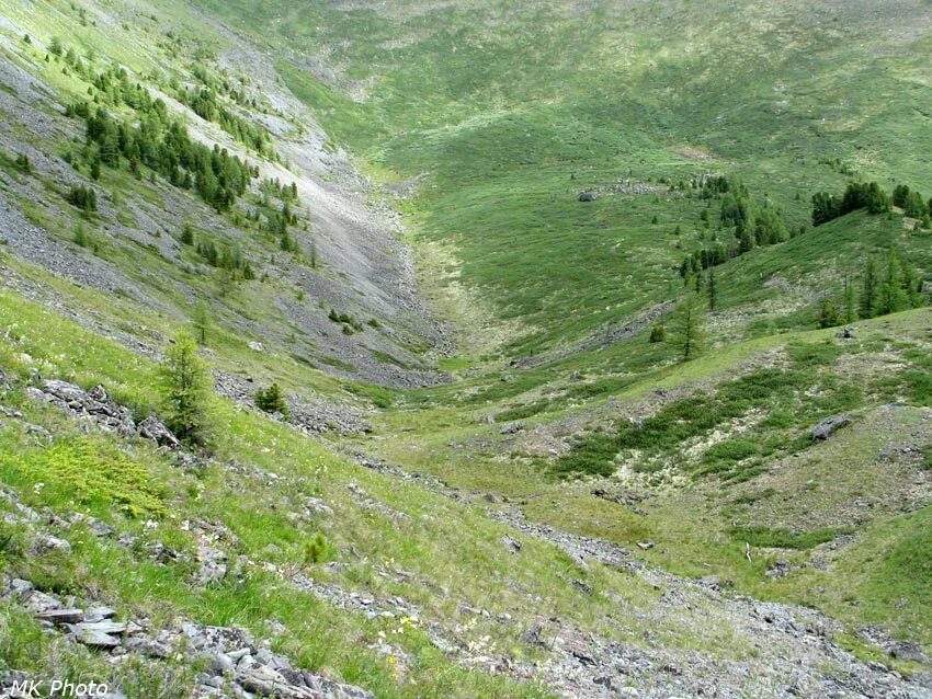
<path fill-rule="evenodd" d="M 169 76 L 185 78 L 195 54 L 228 46 L 223 32 L 178 0 L 159 0 L 155 20 L 127 10 L 133 21 L 125 28 L 81 25 L 76 9 L 58 0 L 34 4 L 0 0 L 3 15 L 38 41 L 67 37 L 82 51 L 95 49 L 98 65 L 103 57 L 120 61 L 162 89 Z M 684 255 L 713 239 L 729 240 L 718 230 L 718 202 L 680 188 L 680 181 L 706 172 L 738 175 L 755 200 L 780 207 L 794 231 L 808 225 L 811 193 L 840 191 L 852 173 L 932 193 L 932 165 L 923 154 L 932 147 L 924 3 L 907 2 L 895 14 L 884 13 L 884 3 L 795 0 L 751 2 L 739 11 L 725 2 L 649 0 L 624 12 L 611 3 L 571 11 L 538 1 L 505 10 L 488 0 L 195 4 L 276 56 L 277 76 L 327 130 L 328 151 L 346 149 L 377 184 L 427 173 L 410 198 L 389 203 L 406 215 L 422 286 L 461 323 L 459 354 L 437 362 L 454 380 L 390 390 L 318 370 L 314 364 L 357 374 L 291 323 L 281 302 L 293 299 L 294 288 L 275 275 L 224 287 L 192 251 L 163 257 L 155 238 L 112 237 L 102 215 L 87 222 L 94 254 L 152 296 L 145 312 L 137 299 L 79 288 L 0 252 L 3 264 L 80 314 L 156 348 L 190 325 L 192 294 L 206 298 L 214 319 L 207 345 L 217 368 L 253 378 L 255 386 L 274 380 L 289 392 L 376 409 L 374 437 L 341 447 L 379 452 L 469 495 L 510 497 L 528 518 L 567 530 L 632 548 L 653 541 L 644 558 L 675 573 L 717 574 L 741 593 L 810 604 L 853 626 L 879 623 L 932 641 L 922 555 L 930 546 L 929 508 L 900 512 L 909 496 L 902 483 L 930 462 L 932 435 L 919 410 L 932 405 L 929 312 L 860 321 L 852 341 L 837 339 L 836 329 L 811 330 L 820 295 L 840 298 L 843 280 L 857 279 L 868 255 L 897 249 L 923 277 L 932 274 L 928 234 L 905 231 L 899 215 L 854 213 L 728 261 L 716 270 L 711 343 L 694 362 L 677 363 L 675 347 L 649 344 L 647 331 L 621 342 L 610 334 L 613 325 L 684 293 L 675 268 Z M 46 65 L 37 47 L 2 51 L 62 100 L 86 98 L 88 84 L 65 75 L 59 62 Z M 318 57 L 334 67 L 333 80 L 307 68 Z M 29 136 L 22 126 L 11 128 Z M 67 139 L 37 145 L 46 152 L 78 150 Z M 12 162 L 10 154 L 0 158 L 11 181 L 29 181 L 45 194 L 33 200 L 11 185 L 5 193 L 13 204 L 73 244 L 73 213 L 47 205 L 59 202 L 62 185 L 33 181 Z M 622 180 L 649 191 L 577 200 L 582 190 Z M 105 169 L 102 184 L 117 220 L 141 220 L 130 215 L 129 202 L 160 219 L 170 207 L 167 192 L 125 169 Z M 306 204 L 312 210 L 314 202 Z M 197 214 L 215 224 L 212 236 L 226 239 L 231 219 Z M 254 227 L 245 232 L 242 244 L 254 259 L 277 254 L 274 241 Z M 327 308 L 325 299 L 311 302 Z M 291 337 L 287 352 L 248 350 L 250 340 L 274 344 L 249 324 L 265 318 L 281 337 Z M 0 294 L 0 321 L 7 331 L 0 366 L 22 379 L 37 368 L 82 386 L 102 381 L 140 414 L 155 404 L 150 360 L 12 293 Z M 580 350 L 580 343 L 589 344 Z M 399 346 L 424 350 L 417 341 Z M 390 353 L 373 356 L 404 364 Z M 509 364 L 524 357 L 541 364 Z M 683 394 L 655 400 L 657 389 Z M 236 555 L 299 566 L 346 589 L 404 596 L 425 619 L 447 627 L 461 622 L 461 601 L 508 610 L 514 628 L 479 621 L 469 640 L 488 638 L 496 653 L 507 649 L 525 660 L 534 651 L 521 644 L 516 629 L 544 614 L 618 642 L 639 642 L 658 626 L 663 642 L 677 648 L 704 640 L 687 624 L 657 624 L 650 618 L 657 595 L 640 580 L 581 570 L 538 541 L 523 541 L 515 565 L 499 545 L 505 529 L 475 508 L 402 488 L 225 401 L 212 405 L 216 458 L 198 473 L 179 470 L 145 445 L 81 435 L 56 411 L 36 409 L 22 396 L 11 401 L 53 431 L 56 442 L 46 448 L 22 431 L 0 431 L 4 483 L 34 506 L 92 512 L 140 536 L 140 547 L 160 540 L 190 551 L 195 542 L 180 522 L 220 520 L 239 541 Z M 907 409 L 890 416 L 883 409 L 889 403 Z M 851 412 L 854 424 L 814 444 L 810 427 L 839 412 Z M 527 429 L 500 435 L 490 415 L 497 423 L 526 421 Z M 885 429 L 872 429 L 875 424 Z M 541 444 L 533 444 L 538 436 Z M 924 456 L 877 468 L 887 437 L 914 442 Z M 234 477 L 230 463 L 245 470 Z M 286 481 L 243 475 L 252 470 Z M 410 519 L 364 507 L 346 490 L 351 480 Z M 627 504 L 594 497 L 596 484 L 635 497 Z M 299 512 L 308 496 L 332 503 L 338 517 L 296 524 L 288 513 Z M 876 501 L 870 512 L 852 508 L 868 497 Z M 150 518 L 158 523 L 155 532 L 144 530 Z M 861 538 L 831 552 L 822 547 L 849 531 Z M 397 629 L 388 621 L 343 614 L 261 571 L 196 591 L 190 564 L 158 566 L 143 549 L 120 549 L 78 531 L 69 534 L 72 554 L 30 560 L 22 554 L 25 536 L 0 531 L 5 570 L 49 589 L 94 589 L 159 622 L 183 614 L 261 630 L 266 619 L 279 619 L 291 632 L 279 642 L 283 650 L 378 697 L 547 696 L 546 688 L 456 667 L 422 629 L 391 634 Z M 817 554 L 828 559 L 825 570 L 805 565 Z M 772 580 L 764 572 L 777 555 L 794 568 Z M 323 561 L 338 565 L 325 573 Z M 411 576 L 396 580 L 394 566 Z M 114 578 L 113 570 L 127 573 Z M 568 575 L 617 598 L 596 594 L 580 604 Z M 0 656 L 48 671 L 57 651 L 36 638 L 34 624 L 13 609 L 0 618 Z M 741 652 L 723 641 L 727 630 L 703 631 L 725 656 Z M 379 633 L 399 637 L 410 658 L 404 677 L 393 662 L 360 650 Z M 62 662 L 78 672 L 93 658 Z M 183 684 L 190 671 L 169 668 L 164 681 Z M 159 689 L 155 677 L 135 686 L 125 674 L 122 680 L 137 696 L 178 694 Z"/>

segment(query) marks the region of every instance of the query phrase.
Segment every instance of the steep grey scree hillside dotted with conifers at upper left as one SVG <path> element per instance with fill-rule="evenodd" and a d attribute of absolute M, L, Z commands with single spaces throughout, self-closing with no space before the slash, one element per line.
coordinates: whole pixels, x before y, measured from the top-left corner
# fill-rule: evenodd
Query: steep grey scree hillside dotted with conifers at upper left
<path fill-rule="evenodd" d="M 397 215 L 328 144 L 271 58 L 183 5 L 159 18 L 141 5 L 11 3 L 4 15 L 2 196 L 19 259 L 129 299 L 137 316 L 177 322 L 203 303 L 230 342 L 327 373 L 401 386 L 442 378 L 424 363 L 444 351 L 442 328 L 413 288 Z M 133 45 L 144 50 L 127 54 Z M 164 115 L 140 94 L 162 100 Z M 253 169 L 246 192 L 235 203 L 197 200 L 146 154 L 132 176 L 100 138 L 82 145 L 83 114 L 64 112 L 84 103 L 117 122 L 156 114 L 184 124 L 193 142 Z M 196 172 L 178 172 L 203 194 Z M 68 205 L 76 186 L 96 194 L 95 211 Z M 219 260 L 202 252 L 208 245 Z"/>

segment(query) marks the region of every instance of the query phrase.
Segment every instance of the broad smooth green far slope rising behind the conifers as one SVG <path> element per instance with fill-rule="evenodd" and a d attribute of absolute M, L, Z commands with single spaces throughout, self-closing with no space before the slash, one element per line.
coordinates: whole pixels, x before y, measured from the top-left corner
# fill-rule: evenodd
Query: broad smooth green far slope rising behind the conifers
<path fill-rule="evenodd" d="M 530 334 L 513 354 L 669 297 L 675 225 L 696 244 L 689 202 L 580 206 L 587 186 L 737 172 L 796 228 L 807 215 L 796 194 L 844 181 L 823 161 L 932 179 L 917 157 L 930 91 L 922 3 L 203 4 L 298 64 L 326 47 L 344 83 L 366 87 L 351 103 L 334 96 L 344 84 L 285 73 L 367 161 L 399 179 L 430 173 L 411 221 L 456 244 L 459 278 L 496 318 L 521 319 Z"/>

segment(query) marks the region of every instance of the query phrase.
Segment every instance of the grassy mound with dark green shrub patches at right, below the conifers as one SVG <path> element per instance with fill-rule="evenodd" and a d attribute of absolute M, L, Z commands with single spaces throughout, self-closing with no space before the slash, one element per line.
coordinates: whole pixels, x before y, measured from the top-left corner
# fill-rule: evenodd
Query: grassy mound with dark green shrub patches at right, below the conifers
<path fill-rule="evenodd" d="M 883 622 L 930 642 L 924 578 L 911 564 L 902 565 L 929 531 L 930 507 L 922 508 L 929 475 L 920 454 L 932 444 L 930 394 L 921 378 L 929 331 L 929 311 L 922 309 L 860 323 L 853 344 L 837 341 L 834 330 L 792 332 L 634 379 L 613 391 L 609 414 L 643 415 L 649 408 L 644 400 L 658 387 L 715 394 L 738 374 L 765 375 L 773 366 L 791 373 L 774 376 L 773 398 L 764 392 L 746 403 L 732 396 L 737 420 L 661 442 L 653 467 L 647 468 L 653 454 L 648 451 L 634 459 L 634 472 L 622 469 L 606 480 L 556 480 L 548 460 L 531 456 L 536 449 L 528 444 L 536 437 L 501 436 L 498 425 L 477 420 L 481 411 L 464 412 L 445 401 L 386 416 L 382 429 L 397 437 L 379 449 L 467 492 L 491 491 L 521 502 L 532 519 L 632 548 L 653 541 L 645 558 L 678 573 L 718 574 L 750 594 L 809 604 L 854 623 Z M 886 408 L 893 403 L 902 408 Z M 581 420 L 569 429 L 572 436 L 592 421 L 598 404 L 604 399 L 556 400 L 552 412 L 526 420 L 527 431 L 558 436 L 553 425 Z M 854 424 L 829 443 L 812 445 L 810 426 L 842 410 L 852 411 Z M 673 428 L 674 423 L 664 427 Z M 728 455 L 720 445 L 737 439 L 750 439 L 753 454 L 735 462 L 727 456 L 705 458 L 711 444 L 719 443 L 717 455 Z M 883 456 L 902 448 L 905 456 Z M 632 506 L 617 505 L 593 497 L 595 488 L 635 500 Z M 907 514 L 917 503 L 920 509 Z M 837 550 L 818 547 L 846 531 L 861 536 Z M 817 557 L 829 561 L 825 570 L 811 568 Z M 782 559 L 800 568 L 785 578 L 763 574 Z"/>

